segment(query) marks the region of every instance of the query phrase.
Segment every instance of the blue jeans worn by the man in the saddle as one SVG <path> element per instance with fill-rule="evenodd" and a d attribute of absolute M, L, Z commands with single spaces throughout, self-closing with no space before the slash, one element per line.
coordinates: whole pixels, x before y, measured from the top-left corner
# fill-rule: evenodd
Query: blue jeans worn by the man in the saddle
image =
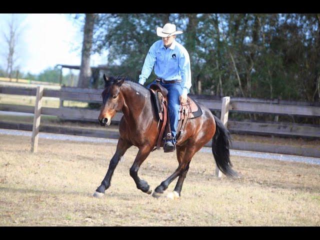
<path fill-rule="evenodd" d="M 151 84 L 156 83 L 154 80 L 150 84 L 148 84 L 146 87 L 149 88 Z M 182 94 L 182 87 L 181 83 L 167 83 L 164 84 L 160 82 L 160 85 L 163 86 L 168 90 L 168 113 L 170 118 L 170 127 L 171 127 L 171 134 L 172 134 L 172 141 L 175 144 L 175 135 L 177 131 L 178 126 L 178 120 L 179 120 L 179 108 L 180 108 L 180 95 Z"/>

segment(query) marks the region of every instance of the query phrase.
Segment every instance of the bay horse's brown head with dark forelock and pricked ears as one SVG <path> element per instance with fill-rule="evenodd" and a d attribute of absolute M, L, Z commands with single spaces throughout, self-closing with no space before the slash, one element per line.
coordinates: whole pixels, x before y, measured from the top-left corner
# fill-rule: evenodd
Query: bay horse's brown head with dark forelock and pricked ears
<path fill-rule="evenodd" d="M 102 106 L 98 120 L 101 126 L 108 126 L 110 125 L 111 118 L 123 107 L 124 99 L 120 87 L 124 81 L 124 77 L 106 77 L 103 74 L 103 80 L 105 85 L 101 93 Z"/>

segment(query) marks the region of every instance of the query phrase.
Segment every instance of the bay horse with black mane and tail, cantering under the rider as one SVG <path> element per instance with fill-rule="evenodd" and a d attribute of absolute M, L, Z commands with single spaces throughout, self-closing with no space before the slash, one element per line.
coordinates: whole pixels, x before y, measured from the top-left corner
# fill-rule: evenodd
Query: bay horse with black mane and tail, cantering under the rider
<path fill-rule="evenodd" d="M 122 111 L 123 116 L 119 122 L 119 139 L 116 151 L 112 156 L 106 175 L 101 184 L 96 188 L 93 196 L 102 197 L 110 186 L 113 171 L 125 151 L 132 145 L 138 147 L 137 155 L 130 167 L 130 176 L 136 187 L 150 194 L 152 189 L 145 180 L 138 176 L 138 170 L 142 162 L 156 145 L 161 124 L 158 125 L 156 113 L 149 89 L 143 85 L 125 79 L 125 77 L 106 77 L 101 93 L 102 106 L 98 120 L 102 126 L 109 126 L 112 117 L 117 111 Z M 176 143 L 176 156 L 178 167 L 164 181 L 158 185 L 152 194 L 154 197 L 162 195 L 168 185 L 178 176 L 174 191 L 168 194 L 170 198 L 180 196 L 183 180 L 189 169 L 192 156 L 200 148 L 212 139 L 212 153 L 216 165 L 226 176 L 237 177 L 238 174 L 231 166 L 229 159 L 230 135 L 222 122 L 201 103 L 198 103 L 202 115 L 190 119 L 184 129 L 184 133 Z"/>

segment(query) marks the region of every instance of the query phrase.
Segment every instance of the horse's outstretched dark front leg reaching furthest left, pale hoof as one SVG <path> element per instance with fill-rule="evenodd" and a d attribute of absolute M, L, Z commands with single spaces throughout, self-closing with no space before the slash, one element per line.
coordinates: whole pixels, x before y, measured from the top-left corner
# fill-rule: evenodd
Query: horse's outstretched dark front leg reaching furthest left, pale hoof
<path fill-rule="evenodd" d="M 117 146 L 116 146 L 116 151 L 114 155 L 112 156 L 110 163 L 109 163 L 109 168 L 101 182 L 101 185 L 96 188 L 93 196 L 95 197 L 102 197 L 104 195 L 104 191 L 109 188 L 110 186 L 110 181 L 111 177 L 113 174 L 113 171 L 118 164 L 121 156 L 125 153 L 125 151 L 131 146 L 132 144 L 128 143 L 126 140 L 119 138 Z"/>

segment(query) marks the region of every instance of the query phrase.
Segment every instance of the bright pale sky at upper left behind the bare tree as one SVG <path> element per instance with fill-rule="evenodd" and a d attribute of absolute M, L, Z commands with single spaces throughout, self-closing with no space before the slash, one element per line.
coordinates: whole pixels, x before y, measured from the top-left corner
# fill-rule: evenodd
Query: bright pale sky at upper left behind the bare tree
<path fill-rule="evenodd" d="M 8 21 L 11 17 L 11 13 L 0 13 L 0 66 L 3 69 L 8 48 L 3 34 L 9 31 Z M 14 13 L 13 19 L 20 32 L 16 42 L 15 62 L 21 72 L 38 74 L 56 64 L 80 65 L 83 23 L 70 14 Z M 91 56 L 90 64 L 105 64 L 106 59 L 105 53 L 96 53 Z"/>

